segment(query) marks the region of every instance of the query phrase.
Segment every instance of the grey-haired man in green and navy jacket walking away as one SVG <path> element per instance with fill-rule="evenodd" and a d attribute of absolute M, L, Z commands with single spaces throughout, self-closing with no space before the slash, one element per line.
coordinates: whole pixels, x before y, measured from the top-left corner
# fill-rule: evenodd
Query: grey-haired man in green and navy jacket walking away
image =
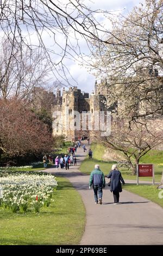
<path fill-rule="evenodd" d="M 95 164 L 95 169 L 92 170 L 90 175 L 89 188 L 93 186 L 95 204 L 102 204 L 103 188 L 105 187 L 105 177 L 103 172 L 99 169 L 99 165 Z"/>

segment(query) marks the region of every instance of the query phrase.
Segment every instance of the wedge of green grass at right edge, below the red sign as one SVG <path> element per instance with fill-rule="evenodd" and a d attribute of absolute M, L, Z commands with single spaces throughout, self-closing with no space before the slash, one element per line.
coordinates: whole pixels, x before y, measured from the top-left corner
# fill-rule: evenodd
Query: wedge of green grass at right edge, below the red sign
<path fill-rule="evenodd" d="M 152 186 L 152 185 L 126 184 L 126 186 L 123 188 L 132 193 L 139 194 L 139 196 L 145 197 L 148 200 L 151 200 L 152 202 L 159 204 L 161 207 L 163 207 L 163 198 L 162 199 L 159 198 L 158 194 L 160 190 L 158 190 L 155 185 Z"/>

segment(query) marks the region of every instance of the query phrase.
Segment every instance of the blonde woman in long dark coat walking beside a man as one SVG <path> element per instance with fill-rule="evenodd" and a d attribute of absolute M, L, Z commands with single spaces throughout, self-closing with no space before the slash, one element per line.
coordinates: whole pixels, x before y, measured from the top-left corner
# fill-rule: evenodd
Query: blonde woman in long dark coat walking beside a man
<path fill-rule="evenodd" d="M 122 192 L 121 181 L 123 185 L 125 185 L 125 182 L 120 171 L 117 169 L 117 164 L 113 164 L 111 172 L 108 175 L 105 175 L 105 177 L 108 179 L 110 178 L 110 191 L 113 193 L 114 204 L 118 204 L 120 192 Z"/>

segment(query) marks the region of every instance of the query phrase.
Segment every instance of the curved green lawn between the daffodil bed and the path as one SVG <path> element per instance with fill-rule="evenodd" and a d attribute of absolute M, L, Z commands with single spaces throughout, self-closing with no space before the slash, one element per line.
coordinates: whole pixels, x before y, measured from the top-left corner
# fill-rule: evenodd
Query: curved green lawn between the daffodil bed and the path
<path fill-rule="evenodd" d="M 0 245 L 78 245 L 85 227 L 84 204 L 67 179 L 57 180 L 55 201 L 39 214 L 0 208 Z"/>

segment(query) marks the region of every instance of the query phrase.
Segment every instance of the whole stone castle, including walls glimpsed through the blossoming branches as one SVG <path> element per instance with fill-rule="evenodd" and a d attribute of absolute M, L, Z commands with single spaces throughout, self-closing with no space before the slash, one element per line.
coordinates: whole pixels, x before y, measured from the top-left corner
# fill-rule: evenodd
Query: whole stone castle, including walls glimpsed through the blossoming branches
<path fill-rule="evenodd" d="M 137 74 L 141 77 L 145 75 L 151 76 L 154 83 L 158 83 L 156 77 L 158 77 L 158 71 L 153 69 L 143 69 L 143 74 Z M 141 71 L 141 72 L 142 72 Z M 132 82 L 132 80 L 130 80 Z M 135 80 L 133 78 L 133 83 Z M 123 84 L 122 84 L 123 86 Z M 124 83 L 125 86 L 125 83 Z M 116 84 L 115 84 L 116 90 Z M 138 92 L 141 93 L 140 91 Z M 65 135 L 67 141 L 76 141 L 78 137 L 86 136 L 96 136 L 99 129 L 99 123 L 103 123 L 106 126 L 106 118 L 101 121 L 97 118 L 98 113 L 115 112 L 122 117 L 129 106 L 129 111 L 131 109 L 130 105 L 133 104 L 133 99 L 121 99 L 114 100 L 110 104 L 106 104 L 106 98 L 111 95 L 109 91 L 109 85 L 106 80 L 101 81 L 101 83 L 95 83 L 95 92 L 83 93 L 77 87 L 70 87 L 68 90 L 63 88 L 62 92 L 57 89 L 56 94 L 52 92 L 47 92 L 42 88 L 35 88 L 35 105 L 37 108 L 44 108 L 48 110 L 53 119 L 53 135 Z M 162 95 L 162 94 L 161 94 Z M 161 96 L 163 99 L 163 95 Z M 141 104 L 135 104 L 135 113 L 143 114 L 147 113 L 149 109 L 149 103 L 146 101 L 141 101 Z M 109 107 L 108 107 L 109 106 Z M 149 117 L 149 115 L 148 115 Z M 152 117 L 153 118 L 153 117 Z M 90 126 L 91 127 L 90 127 Z"/>

